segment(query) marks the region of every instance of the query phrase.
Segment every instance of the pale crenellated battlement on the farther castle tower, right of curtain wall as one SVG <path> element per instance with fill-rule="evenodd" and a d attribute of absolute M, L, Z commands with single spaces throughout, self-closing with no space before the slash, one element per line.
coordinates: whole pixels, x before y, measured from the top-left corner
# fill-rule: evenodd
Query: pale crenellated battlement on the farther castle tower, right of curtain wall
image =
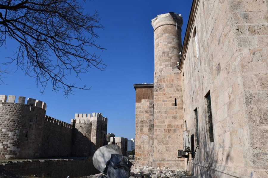
<path fill-rule="evenodd" d="M 74 115 L 74 119 L 80 120 L 79 123 L 88 123 L 92 120 L 102 120 L 102 121 L 107 122 L 107 117 L 103 117 L 102 113 L 99 113 L 99 112 L 93 112 L 91 114 L 77 114 L 76 113 Z"/>

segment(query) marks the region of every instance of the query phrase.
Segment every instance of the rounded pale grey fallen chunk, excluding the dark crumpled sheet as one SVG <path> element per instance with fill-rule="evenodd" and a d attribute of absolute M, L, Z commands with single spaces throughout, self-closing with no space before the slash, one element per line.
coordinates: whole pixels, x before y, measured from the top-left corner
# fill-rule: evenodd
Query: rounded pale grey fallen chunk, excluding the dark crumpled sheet
<path fill-rule="evenodd" d="M 101 173 L 104 173 L 106 163 L 111 158 L 111 154 L 122 155 L 121 149 L 117 144 L 108 144 L 100 147 L 93 155 L 93 165 Z"/>

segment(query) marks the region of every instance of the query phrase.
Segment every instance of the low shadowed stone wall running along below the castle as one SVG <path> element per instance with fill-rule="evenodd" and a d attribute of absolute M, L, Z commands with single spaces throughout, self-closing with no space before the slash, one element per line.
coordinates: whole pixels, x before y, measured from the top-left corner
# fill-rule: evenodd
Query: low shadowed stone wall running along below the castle
<path fill-rule="evenodd" d="M 94 168 L 92 157 L 87 159 L 61 159 L 61 160 L 29 160 L 2 163 L 3 168 L 17 175 L 39 177 L 66 178 L 82 177 L 98 174 Z"/>

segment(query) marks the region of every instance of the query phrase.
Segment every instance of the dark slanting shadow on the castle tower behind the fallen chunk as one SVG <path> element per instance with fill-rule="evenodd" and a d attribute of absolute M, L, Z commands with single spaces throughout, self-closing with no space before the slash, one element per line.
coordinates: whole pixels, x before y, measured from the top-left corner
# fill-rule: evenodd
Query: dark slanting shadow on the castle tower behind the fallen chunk
<path fill-rule="evenodd" d="M 86 135 L 82 134 L 78 131 L 77 128 L 74 128 L 73 131 L 73 147 L 72 147 L 72 155 L 73 156 L 93 156 L 95 150 L 95 144 L 91 142 L 91 140 L 86 137 Z"/>

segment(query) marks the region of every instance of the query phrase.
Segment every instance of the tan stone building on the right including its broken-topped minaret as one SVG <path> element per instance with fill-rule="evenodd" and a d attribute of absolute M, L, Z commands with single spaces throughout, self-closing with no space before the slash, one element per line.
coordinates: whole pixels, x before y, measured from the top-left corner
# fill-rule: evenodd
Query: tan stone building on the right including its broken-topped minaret
<path fill-rule="evenodd" d="M 178 15 L 152 20 L 154 84 L 134 85 L 136 164 L 198 177 L 268 177 L 267 10 L 267 0 L 194 0 L 182 48 L 173 45 L 181 43 L 173 39 Z M 177 158 L 183 131 L 196 152 Z"/>

